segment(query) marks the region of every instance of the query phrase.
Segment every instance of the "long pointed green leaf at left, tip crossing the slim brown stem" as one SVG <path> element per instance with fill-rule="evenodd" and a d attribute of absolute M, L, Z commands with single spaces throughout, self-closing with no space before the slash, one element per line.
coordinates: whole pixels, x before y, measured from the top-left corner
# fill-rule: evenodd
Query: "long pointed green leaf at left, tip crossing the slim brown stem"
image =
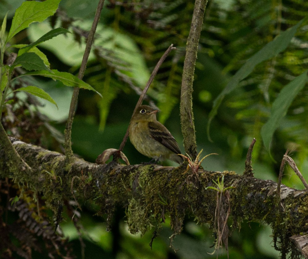
<path fill-rule="evenodd" d="M 51 70 L 51 72 L 47 70 L 41 70 L 41 71 L 28 72 L 28 73 L 20 75 L 19 77 L 26 76 L 26 75 L 37 75 L 37 76 L 52 78 L 53 80 L 61 81 L 66 86 L 73 86 L 73 87 L 76 86 L 79 88 L 92 90 L 92 91 L 95 91 L 100 96 L 102 96 L 92 86 L 90 86 L 86 82 L 83 82 L 78 77 L 75 77 L 74 75 L 67 73 L 67 72 L 59 72 L 58 70 L 55 70 L 55 69 Z"/>

